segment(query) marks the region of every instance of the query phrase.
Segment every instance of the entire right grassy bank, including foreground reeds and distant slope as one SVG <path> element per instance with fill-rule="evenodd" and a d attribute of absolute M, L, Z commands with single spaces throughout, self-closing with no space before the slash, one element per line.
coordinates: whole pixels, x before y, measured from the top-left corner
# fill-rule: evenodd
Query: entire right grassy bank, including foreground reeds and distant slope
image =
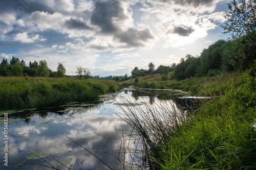
<path fill-rule="evenodd" d="M 174 88 L 196 95 L 220 96 L 183 115 L 189 117 L 185 119 L 162 104 L 158 104 L 160 107 L 147 104 L 151 108 L 144 112 L 143 108 L 124 111 L 133 116 L 125 120 L 146 146 L 143 153 L 153 160 L 147 159 L 150 168 L 256 169 L 255 75 L 251 69 L 182 81 L 162 81 L 160 75 L 140 77 L 137 84 L 130 80 L 131 84 L 145 88 Z M 137 111 L 144 114 L 136 117 Z M 158 113 L 164 116 L 158 118 Z M 148 115 L 154 119 L 144 126 L 150 119 Z M 174 119 L 169 120 L 170 117 Z"/>

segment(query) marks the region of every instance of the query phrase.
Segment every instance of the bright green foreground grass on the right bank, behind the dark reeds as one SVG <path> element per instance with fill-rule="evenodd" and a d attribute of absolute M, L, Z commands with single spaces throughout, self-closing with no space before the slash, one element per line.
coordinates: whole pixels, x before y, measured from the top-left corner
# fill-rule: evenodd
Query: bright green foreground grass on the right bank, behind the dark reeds
<path fill-rule="evenodd" d="M 158 168 L 256 169 L 255 83 L 248 74 L 219 81 L 219 86 L 227 86 L 218 90 L 225 95 L 202 105 L 175 135 L 159 143 Z"/>

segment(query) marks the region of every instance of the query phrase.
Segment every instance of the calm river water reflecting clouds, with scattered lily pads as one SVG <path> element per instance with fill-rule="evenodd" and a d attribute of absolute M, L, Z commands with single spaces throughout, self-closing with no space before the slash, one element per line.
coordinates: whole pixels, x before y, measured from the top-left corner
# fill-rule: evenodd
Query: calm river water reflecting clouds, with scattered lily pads
<path fill-rule="evenodd" d="M 175 94 L 184 95 L 181 91 L 175 91 Z M 153 104 L 167 100 L 166 95 L 159 94 L 159 91 L 126 89 L 102 96 L 100 104 L 8 113 L 8 166 L 3 162 L 2 113 L 0 156 L 3 160 L 0 169 L 49 169 L 46 166 L 52 164 L 57 169 L 110 169 L 108 166 L 112 169 L 131 169 L 132 164 L 134 169 L 138 169 L 135 164 L 142 162 L 130 152 L 139 149 L 139 145 L 136 141 L 124 140 L 131 134 L 131 128 L 113 113 L 125 109 L 120 96 L 139 104 L 141 101 Z M 183 106 L 185 104 L 184 99 L 178 102 Z M 18 163 L 22 165 L 18 166 Z"/>

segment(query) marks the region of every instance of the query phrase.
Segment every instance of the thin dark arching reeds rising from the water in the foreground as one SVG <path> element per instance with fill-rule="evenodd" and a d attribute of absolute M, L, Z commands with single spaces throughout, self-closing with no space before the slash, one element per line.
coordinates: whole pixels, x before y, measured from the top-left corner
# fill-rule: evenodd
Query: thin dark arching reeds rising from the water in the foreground
<path fill-rule="evenodd" d="M 159 157 L 158 148 L 161 143 L 169 140 L 170 134 L 177 134 L 189 117 L 178 108 L 174 102 L 156 101 L 150 104 L 148 101 L 132 101 L 131 99 L 120 98 L 125 107 L 120 107 L 121 113 L 115 113 L 132 127 L 136 132 L 136 143 L 142 145 L 132 150 L 140 155 L 145 167 L 154 169 L 156 162 L 153 157 Z M 137 155 L 137 156 L 138 156 Z"/>

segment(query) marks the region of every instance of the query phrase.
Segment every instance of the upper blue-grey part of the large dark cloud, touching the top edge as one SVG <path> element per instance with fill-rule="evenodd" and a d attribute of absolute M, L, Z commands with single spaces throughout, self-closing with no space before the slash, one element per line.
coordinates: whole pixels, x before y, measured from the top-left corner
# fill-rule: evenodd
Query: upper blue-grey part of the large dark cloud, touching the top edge
<path fill-rule="evenodd" d="M 98 1 L 95 3 L 91 23 L 100 27 L 102 33 L 111 34 L 119 30 L 113 17 L 118 21 L 127 18 L 117 1 Z"/>

